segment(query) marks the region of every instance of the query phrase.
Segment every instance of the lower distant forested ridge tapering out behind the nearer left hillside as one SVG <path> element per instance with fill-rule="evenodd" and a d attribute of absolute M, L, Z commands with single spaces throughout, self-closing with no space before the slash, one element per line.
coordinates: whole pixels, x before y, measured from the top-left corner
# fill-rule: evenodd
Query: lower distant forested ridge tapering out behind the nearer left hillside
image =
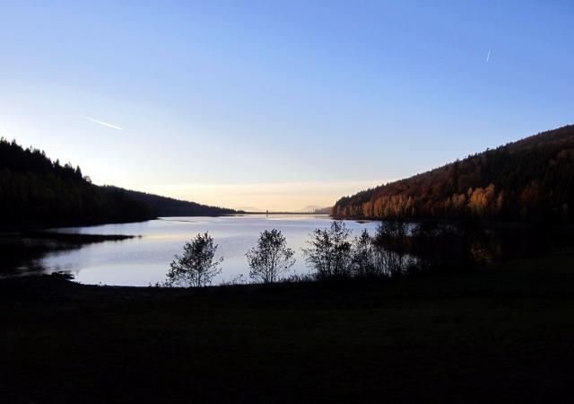
<path fill-rule="evenodd" d="M 112 186 L 105 186 L 103 189 L 108 189 L 112 192 L 124 192 L 129 198 L 134 198 L 146 206 L 150 206 L 154 215 L 157 216 L 211 216 L 242 213 L 242 211 L 236 211 L 226 207 L 201 205 L 196 202 L 160 197 L 159 195 Z"/>

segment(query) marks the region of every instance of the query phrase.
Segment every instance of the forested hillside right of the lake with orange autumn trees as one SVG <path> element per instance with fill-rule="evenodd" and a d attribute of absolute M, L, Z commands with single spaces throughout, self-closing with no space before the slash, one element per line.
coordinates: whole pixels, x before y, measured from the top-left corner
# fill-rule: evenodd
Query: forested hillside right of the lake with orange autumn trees
<path fill-rule="evenodd" d="M 339 199 L 338 217 L 572 222 L 574 126 Z"/>

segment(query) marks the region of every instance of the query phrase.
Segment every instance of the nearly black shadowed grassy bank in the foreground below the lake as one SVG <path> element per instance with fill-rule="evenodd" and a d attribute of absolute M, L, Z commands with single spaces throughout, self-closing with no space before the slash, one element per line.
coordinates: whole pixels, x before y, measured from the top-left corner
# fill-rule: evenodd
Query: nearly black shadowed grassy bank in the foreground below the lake
<path fill-rule="evenodd" d="M 0 403 L 574 402 L 574 255 L 376 284 L 0 282 Z"/>

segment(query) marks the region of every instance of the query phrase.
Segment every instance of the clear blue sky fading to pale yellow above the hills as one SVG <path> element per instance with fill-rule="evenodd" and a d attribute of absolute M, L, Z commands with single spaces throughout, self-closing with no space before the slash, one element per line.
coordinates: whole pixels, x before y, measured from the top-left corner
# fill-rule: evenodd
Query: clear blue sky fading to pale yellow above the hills
<path fill-rule="evenodd" d="M 269 210 L 574 123 L 567 1 L 0 0 L 0 136 Z"/>

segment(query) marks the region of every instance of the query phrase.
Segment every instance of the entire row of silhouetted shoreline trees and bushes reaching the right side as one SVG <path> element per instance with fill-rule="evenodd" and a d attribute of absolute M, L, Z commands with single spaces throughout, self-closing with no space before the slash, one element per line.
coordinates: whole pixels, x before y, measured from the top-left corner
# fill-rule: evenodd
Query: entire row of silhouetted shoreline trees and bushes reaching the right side
<path fill-rule="evenodd" d="M 254 283 L 345 281 L 400 277 L 421 270 L 464 271 L 477 263 L 532 258 L 572 245 L 571 231 L 544 224 L 493 231 L 473 219 L 457 224 L 391 220 L 381 221 L 372 235 L 367 229 L 353 235 L 343 220 L 333 220 L 310 233 L 302 249 L 309 275 L 290 273 L 295 252 L 277 229 L 260 233 L 246 259 Z M 197 234 L 182 254 L 176 254 L 163 285 L 210 285 L 222 272 L 217 247 L 209 233 Z"/>

